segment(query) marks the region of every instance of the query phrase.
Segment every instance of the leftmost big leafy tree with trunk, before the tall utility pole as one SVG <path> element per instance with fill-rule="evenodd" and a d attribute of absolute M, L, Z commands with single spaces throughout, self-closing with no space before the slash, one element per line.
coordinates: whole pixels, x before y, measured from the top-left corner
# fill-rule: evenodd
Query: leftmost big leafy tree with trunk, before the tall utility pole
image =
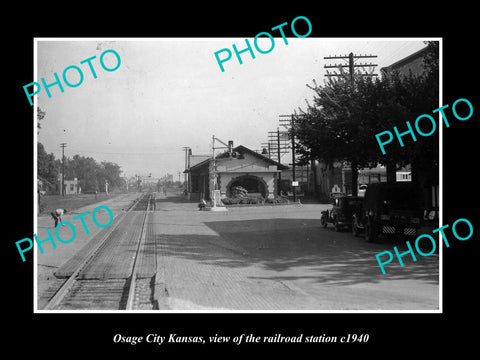
<path fill-rule="evenodd" d="M 308 85 L 307 85 L 308 86 Z M 324 86 L 309 86 L 315 91 L 314 106 L 308 105 L 297 116 L 293 131 L 301 160 L 315 158 L 332 164 L 347 161 L 351 167 L 352 194 L 357 194 L 358 168 L 376 159 L 372 134 L 371 102 L 375 83 L 355 76 L 330 79 Z M 361 90 L 361 91 L 360 91 Z"/>

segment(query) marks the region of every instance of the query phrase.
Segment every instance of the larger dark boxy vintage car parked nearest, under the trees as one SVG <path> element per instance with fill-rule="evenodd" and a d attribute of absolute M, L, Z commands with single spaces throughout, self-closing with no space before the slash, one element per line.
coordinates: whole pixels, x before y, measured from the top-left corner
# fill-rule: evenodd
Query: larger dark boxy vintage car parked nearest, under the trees
<path fill-rule="evenodd" d="M 423 213 L 423 193 L 412 182 L 370 184 L 363 211 L 352 216 L 352 233 L 365 232 L 368 242 L 379 236 L 417 236 Z"/>

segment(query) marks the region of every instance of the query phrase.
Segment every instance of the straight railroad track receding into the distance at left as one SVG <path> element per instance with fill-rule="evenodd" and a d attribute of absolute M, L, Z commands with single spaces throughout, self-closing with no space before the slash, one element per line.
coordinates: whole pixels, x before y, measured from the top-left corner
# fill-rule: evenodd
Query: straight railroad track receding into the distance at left
<path fill-rule="evenodd" d="M 151 199 L 151 194 L 142 195 L 118 216 L 81 260 L 70 261 L 59 269 L 58 273 L 66 280 L 44 310 L 145 308 L 142 299 L 149 297 L 156 270 L 156 249 L 149 221 Z"/>

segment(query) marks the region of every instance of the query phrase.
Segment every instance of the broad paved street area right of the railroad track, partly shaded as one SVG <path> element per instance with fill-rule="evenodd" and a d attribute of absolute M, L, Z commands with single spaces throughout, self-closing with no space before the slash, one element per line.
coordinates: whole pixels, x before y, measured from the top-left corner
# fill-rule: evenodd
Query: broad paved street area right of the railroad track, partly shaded
<path fill-rule="evenodd" d="M 155 298 L 169 310 L 437 310 L 438 256 L 382 275 L 369 244 L 320 226 L 327 205 L 198 211 L 160 199 Z M 401 243 L 396 244 L 402 249 Z"/>

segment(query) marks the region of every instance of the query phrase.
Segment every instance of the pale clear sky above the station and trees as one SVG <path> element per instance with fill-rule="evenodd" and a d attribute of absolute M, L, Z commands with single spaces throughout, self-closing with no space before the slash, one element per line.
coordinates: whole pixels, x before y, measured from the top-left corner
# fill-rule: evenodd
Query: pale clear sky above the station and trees
<path fill-rule="evenodd" d="M 34 106 L 46 112 L 36 141 L 48 153 L 61 158 L 61 143 L 67 143 L 65 156 L 92 157 L 98 162 L 120 165 L 122 176 L 162 177 L 185 168 L 183 147 L 194 155 L 212 153 L 212 136 L 223 142 L 234 141 L 252 150 L 261 149 L 268 132 L 279 126 L 280 114 L 292 114 L 312 103 L 313 91 L 306 86 L 313 79 L 324 81 L 324 65 L 342 60 L 325 56 L 377 55 L 358 62 L 378 64 L 380 69 L 425 47 L 420 38 L 275 38 L 271 52 L 241 54 L 240 64 L 233 54 L 220 70 L 214 53 L 232 44 L 246 47 L 245 38 L 109 38 L 36 39 L 36 69 L 33 81 L 53 83 L 54 72 L 62 81 L 35 96 Z M 268 49 L 268 38 L 259 41 Z M 115 71 L 105 71 L 100 55 L 114 50 L 121 63 Z M 223 57 L 226 53 L 221 54 Z M 91 60 L 97 78 L 87 63 Z M 113 68 L 116 59 L 106 53 L 105 66 Z M 65 85 L 64 69 L 78 66 L 83 82 Z M 330 69 L 332 70 L 332 69 Z M 75 70 L 67 80 L 79 82 Z M 218 145 L 218 144 L 217 144 Z M 282 158 L 282 162 L 283 158 Z M 288 158 L 285 158 L 288 162 Z"/>

